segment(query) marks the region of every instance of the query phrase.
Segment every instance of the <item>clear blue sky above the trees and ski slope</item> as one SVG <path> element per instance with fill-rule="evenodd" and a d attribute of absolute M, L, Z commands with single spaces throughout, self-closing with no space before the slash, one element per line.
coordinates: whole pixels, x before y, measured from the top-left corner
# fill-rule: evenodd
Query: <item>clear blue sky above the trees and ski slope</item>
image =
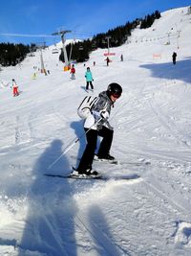
<path fill-rule="evenodd" d="M 85 39 L 156 10 L 190 5 L 188 0 L 1 0 L 0 42 L 50 45 L 60 38 L 47 35 L 60 30 Z"/>

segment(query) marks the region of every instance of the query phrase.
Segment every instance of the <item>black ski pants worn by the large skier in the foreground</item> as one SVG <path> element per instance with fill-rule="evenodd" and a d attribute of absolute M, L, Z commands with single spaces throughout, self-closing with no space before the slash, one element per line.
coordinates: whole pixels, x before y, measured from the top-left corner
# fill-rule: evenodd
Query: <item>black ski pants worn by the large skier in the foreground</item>
<path fill-rule="evenodd" d="M 87 131 L 88 128 L 85 128 L 85 131 Z M 92 168 L 93 160 L 95 157 L 95 151 L 96 151 L 96 141 L 97 141 L 97 136 L 103 137 L 99 150 L 97 152 L 97 155 L 99 157 L 104 157 L 106 156 L 112 146 L 112 141 L 113 141 L 113 136 L 114 136 L 114 130 L 111 130 L 106 127 L 102 127 L 99 130 L 96 129 L 90 129 L 86 133 L 86 139 L 87 139 L 87 145 L 86 149 L 83 152 L 83 155 L 80 159 L 77 171 L 80 173 L 89 168 Z"/>

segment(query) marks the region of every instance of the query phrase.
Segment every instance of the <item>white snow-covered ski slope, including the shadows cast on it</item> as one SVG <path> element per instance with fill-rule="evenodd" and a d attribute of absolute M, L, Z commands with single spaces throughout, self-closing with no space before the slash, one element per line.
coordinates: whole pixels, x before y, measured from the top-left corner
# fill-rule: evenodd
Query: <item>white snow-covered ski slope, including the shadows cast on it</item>
<path fill-rule="evenodd" d="M 33 70 L 39 52 L 2 68 L 0 255 L 191 255 L 191 15 L 187 8 L 161 14 L 152 28 L 136 29 L 131 43 L 111 49 L 109 67 L 100 49 L 85 67 L 76 64 L 75 81 L 52 54 L 54 46 L 43 51 L 48 76 Z M 74 140 L 83 134 L 76 108 L 87 95 L 87 66 L 95 78 L 89 94 L 113 81 L 123 87 L 111 115 L 111 153 L 120 164 L 95 162 L 94 168 L 138 179 L 44 175 L 69 174 L 83 152 L 84 137 Z M 12 97 L 11 79 L 19 97 Z"/>

